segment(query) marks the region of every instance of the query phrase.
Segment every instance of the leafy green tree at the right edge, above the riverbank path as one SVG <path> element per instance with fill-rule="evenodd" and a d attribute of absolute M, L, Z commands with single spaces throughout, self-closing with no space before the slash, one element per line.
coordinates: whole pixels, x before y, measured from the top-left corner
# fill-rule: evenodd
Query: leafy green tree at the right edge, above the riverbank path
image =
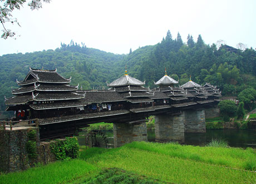
<path fill-rule="evenodd" d="M 243 103 L 250 109 L 253 109 L 256 101 L 256 90 L 253 88 L 247 88 L 241 91 L 238 94 L 239 101 L 243 101 Z"/>

